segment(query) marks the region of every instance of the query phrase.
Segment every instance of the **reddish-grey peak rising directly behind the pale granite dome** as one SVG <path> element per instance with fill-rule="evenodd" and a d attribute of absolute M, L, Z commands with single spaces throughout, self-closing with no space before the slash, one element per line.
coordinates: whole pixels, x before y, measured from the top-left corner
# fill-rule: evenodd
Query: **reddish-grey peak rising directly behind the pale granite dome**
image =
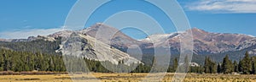
<path fill-rule="evenodd" d="M 100 33 L 102 31 L 102 33 Z M 87 29 L 80 30 L 82 34 L 86 34 L 96 38 L 98 41 L 102 41 L 110 46 L 118 48 L 119 50 L 125 52 L 128 47 L 132 45 L 142 44 L 141 41 L 132 39 L 130 36 L 126 36 L 121 31 L 101 23 L 92 25 Z M 97 33 L 98 32 L 98 33 Z"/>

